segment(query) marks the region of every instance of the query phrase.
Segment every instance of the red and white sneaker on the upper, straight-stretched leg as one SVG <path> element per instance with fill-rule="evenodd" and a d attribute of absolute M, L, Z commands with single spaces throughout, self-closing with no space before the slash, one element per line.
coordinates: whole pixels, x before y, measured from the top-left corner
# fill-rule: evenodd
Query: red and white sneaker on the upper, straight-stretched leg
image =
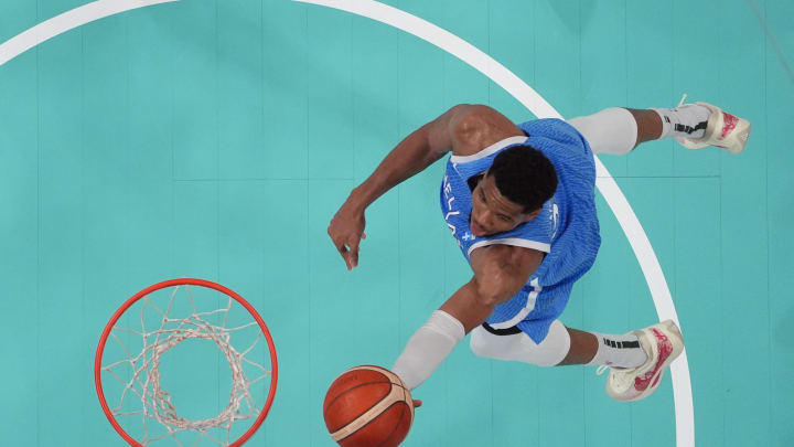
<path fill-rule="evenodd" d="M 686 99 L 686 94 L 682 97 L 678 108 L 688 106 L 688 104 L 684 104 L 684 99 Z M 726 113 L 721 108 L 708 103 L 695 104 L 708 108 L 711 110 L 711 115 L 709 115 L 706 131 L 702 137 L 676 138 L 682 146 L 687 149 L 702 149 L 708 146 L 717 146 L 731 153 L 739 153 L 744 150 L 747 140 L 750 137 L 750 130 L 752 129 L 750 121 Z"/>

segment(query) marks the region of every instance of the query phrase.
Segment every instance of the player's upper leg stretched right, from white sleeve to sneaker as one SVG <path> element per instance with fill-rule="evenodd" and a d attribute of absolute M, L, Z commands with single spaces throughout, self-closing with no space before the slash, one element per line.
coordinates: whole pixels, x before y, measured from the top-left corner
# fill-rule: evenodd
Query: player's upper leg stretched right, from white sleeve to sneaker
<path fill-rule="evenodd" d="M 643 141 L 675 138 L 688 149 L 716 146 L 738 153 L 744 149 L 751 126 L 706 103 L 676 108 L 630 109 L 612 107 L 572 118 L 594 153 L 624 155 Z"/>

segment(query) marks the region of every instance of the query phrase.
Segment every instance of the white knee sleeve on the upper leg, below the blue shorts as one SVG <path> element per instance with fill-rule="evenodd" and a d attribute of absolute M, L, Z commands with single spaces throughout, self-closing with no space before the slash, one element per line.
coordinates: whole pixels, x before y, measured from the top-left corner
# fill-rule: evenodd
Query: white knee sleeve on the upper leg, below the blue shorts
<path fill-rule="evenodd" d="M 636 120 L 624 108 L 608 108 L 594 115 L 569 119 L 568 124 L 579 130 L 593 153 L 620 156 L 631 152 L 636 143 Z"/>

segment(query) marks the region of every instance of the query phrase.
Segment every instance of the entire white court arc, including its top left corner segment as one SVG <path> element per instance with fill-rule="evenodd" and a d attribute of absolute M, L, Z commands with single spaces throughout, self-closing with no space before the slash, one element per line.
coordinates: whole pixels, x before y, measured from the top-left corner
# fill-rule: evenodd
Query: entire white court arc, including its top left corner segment
<path fill-rule="evenodd" d="M 19 54 L 45 42 L 61 33 L 108 15 L 136 8 L 148 7 L 179 0 L 98 0 L 61 15 L 46 20 L 0 44 L 0 66 Z M 498 84 L 527 109 L 539 118 L 561 118 L 540 95 L 502 64 L 457 35 L 405 11 L 371 0 L 294 0 L 335 8 L 363 15 L 416 35 L 457 56 L 461 61 L 483 73 Z M 629 243 L 637 257 L 658 318 L 678 322 L 669 288 L 662 266 L 642 228 L 634 211 L 623 192 L 601 161 L 596 158 L 597 180 L 601 194 L 614 213 Z M 680 323 L 678 323 L 680 327 Z M 691 383 L 686 350 L 670 365 L 673 376 L 673 396 L 675 398 L 676 441 L 679 447 L 695 445 L 695 413 L 693 407 Z"/>

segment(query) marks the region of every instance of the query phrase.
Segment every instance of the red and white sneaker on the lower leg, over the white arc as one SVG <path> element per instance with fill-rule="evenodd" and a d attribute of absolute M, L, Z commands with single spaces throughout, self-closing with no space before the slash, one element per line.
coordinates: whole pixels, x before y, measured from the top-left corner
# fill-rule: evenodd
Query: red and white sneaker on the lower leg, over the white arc
<path fill-rule="evenodd" d="M 640 347 L 648 360 L 636 368 L 602 365 L 598 374 L 609 368 L 607 394 L 615 401 L 639 401 L 653 394 L 670 364 L 684 350 L 684 338 L 673 320 L 663 321 L 645 329 L 633 331 L 640 339 Z"/>

